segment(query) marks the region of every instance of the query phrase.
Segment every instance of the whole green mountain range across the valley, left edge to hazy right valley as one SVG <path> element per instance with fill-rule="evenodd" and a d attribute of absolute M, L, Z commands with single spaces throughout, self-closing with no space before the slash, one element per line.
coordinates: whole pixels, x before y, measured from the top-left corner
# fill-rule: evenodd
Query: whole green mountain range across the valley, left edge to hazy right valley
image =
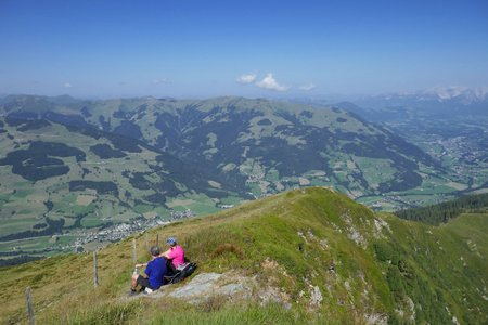
<path fill-rule="evenodd" d="M 411 205 L 399 194 L 466 188 L 420 147 L 338 107 L 11 95 L 0 115 L 0 242 L 204 214 L 301 186 L 390 209 Z"/>

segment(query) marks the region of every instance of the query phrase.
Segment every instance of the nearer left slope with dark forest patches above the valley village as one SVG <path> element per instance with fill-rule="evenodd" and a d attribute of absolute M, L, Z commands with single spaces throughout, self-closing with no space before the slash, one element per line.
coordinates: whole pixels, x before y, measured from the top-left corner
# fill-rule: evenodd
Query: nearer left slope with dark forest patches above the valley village
<path fill-rule="evenodd" d="M 0 130 L 0 259 L 73 251 L 90 233 L 175 210 L 214 212 L 231 195 L 174 156 L 92 127 L 7 117 Z"/>

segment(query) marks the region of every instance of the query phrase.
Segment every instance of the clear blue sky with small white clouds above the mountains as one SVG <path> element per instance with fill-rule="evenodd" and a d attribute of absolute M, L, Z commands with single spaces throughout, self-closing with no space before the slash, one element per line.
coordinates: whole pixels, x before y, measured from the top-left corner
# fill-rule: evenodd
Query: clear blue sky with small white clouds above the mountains
<path fill-rule="evenodd" d="M 488 86 L 488 1 L 0 1 L 0 93 L 316 96 Z"/>

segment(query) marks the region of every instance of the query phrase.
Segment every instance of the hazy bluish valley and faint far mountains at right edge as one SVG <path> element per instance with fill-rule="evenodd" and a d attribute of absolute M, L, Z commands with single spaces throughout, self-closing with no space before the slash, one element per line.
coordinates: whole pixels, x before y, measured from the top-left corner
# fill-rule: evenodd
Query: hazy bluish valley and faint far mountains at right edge
<path fill-rule="evenodd" d="M 488 88 L 437 88 L 335 106 L 395 130 L 467 188 L 488 188 Z M 318 103 L 320 104 L 320 102 Z"/>

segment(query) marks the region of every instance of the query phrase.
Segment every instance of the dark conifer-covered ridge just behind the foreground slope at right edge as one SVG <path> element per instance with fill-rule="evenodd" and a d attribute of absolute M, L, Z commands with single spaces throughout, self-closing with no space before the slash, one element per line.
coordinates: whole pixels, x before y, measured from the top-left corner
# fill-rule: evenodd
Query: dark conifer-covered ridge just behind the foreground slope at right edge
<path fill-rule="evenodd" d="M 466 212 L 484 212 L 488 210 L 488 193 L 463 196 L 455 200 L 423 208 L 396 211 L 401 219 L 421 221 L 427 224 L 440 224 Z"/>

